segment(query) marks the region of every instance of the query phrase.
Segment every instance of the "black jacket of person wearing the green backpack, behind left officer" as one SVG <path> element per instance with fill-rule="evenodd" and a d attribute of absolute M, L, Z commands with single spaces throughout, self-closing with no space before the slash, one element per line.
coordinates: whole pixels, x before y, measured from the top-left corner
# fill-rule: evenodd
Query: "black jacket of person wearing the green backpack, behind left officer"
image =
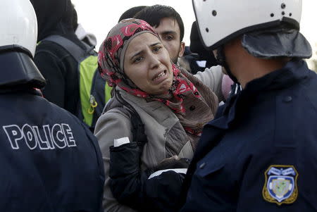
<path fill-rule="evenodd" d="M 35 64 L 46 79 L 44 97 L 78 116 L 80 101 L 77 62 L 66 49 L 43 41 L 49 35 L 61 35 L 85 49 L 73 29 L 74 8 L 69 0 L 31 0 L 37 14 L 38 37 Z"/>

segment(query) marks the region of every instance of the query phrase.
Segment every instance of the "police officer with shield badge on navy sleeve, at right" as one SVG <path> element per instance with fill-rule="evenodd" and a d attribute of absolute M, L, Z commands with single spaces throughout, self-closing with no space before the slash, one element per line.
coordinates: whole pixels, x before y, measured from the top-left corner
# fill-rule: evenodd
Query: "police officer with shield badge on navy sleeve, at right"
<path fill-rule="evenodd" d="M 181 211 L 316 211 L 317 76 L 300 0 L 193 0 L 204 45 L 242 91 L 204 127 Z"/>

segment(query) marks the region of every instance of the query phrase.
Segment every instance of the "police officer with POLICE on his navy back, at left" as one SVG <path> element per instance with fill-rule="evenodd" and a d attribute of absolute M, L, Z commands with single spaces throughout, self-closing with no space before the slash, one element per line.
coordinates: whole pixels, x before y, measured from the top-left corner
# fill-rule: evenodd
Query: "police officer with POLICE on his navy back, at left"
<path fill-rule="evenodd" d="M 37 19 L 30 1 L 0 1 L 0 211 L 99 211 L 97 140 L 37 89 Z"/>

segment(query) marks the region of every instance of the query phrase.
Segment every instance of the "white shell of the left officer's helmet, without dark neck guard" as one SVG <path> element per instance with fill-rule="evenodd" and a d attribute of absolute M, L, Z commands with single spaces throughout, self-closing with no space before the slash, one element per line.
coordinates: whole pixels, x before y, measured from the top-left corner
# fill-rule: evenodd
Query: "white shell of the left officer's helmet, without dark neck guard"
<path fill-rule="evenodd" d="M 0 0 L 0 14 L 0 48 L 23 47 L 34 57 L 37 17 L 30 0 Z"/>

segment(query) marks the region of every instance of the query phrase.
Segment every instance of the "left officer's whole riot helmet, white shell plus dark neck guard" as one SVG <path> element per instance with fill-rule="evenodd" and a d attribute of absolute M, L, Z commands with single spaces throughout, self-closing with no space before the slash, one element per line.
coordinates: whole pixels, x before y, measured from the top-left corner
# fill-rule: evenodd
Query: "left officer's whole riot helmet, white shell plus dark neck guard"
<path fill-rule="evenodd" d="M 0 1 L 1 89 L 42 88 L 45 80 L 32 58 L 37 45 L 37 17 L 29 0 Z"/>

